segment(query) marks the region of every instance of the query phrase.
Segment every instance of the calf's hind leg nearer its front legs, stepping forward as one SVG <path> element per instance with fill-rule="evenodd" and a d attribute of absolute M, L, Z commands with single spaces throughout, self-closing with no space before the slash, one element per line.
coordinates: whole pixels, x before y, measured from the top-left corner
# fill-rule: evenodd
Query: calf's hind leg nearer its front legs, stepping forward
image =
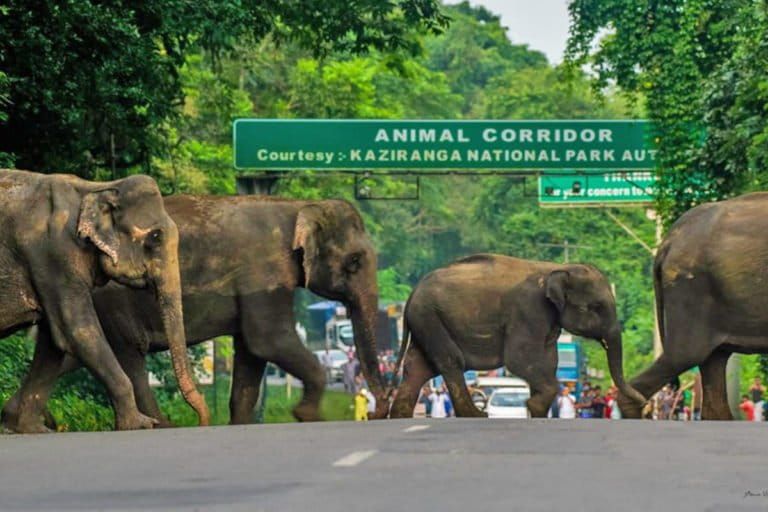
<path fill-rule="evenodd" d="M 443 376 L 451 395 L 451 403 L 459 417 L 486 417 L 472 402 L 464 380 L 464 354 L 451 338 L 442 320 L 434 314 L 421 315 L 411 324 L 411 344 L 424 347 L 422 340 L 431 341 L 430 349 L 423 349 L 424 356 L 437 373 Z"/>

